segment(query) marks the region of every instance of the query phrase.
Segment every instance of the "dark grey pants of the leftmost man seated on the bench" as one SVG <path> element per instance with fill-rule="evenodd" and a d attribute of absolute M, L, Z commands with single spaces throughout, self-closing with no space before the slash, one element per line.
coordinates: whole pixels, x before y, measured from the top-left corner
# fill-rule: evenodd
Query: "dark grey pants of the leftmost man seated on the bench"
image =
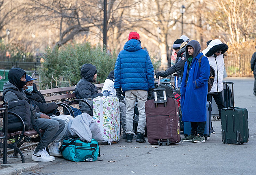
<path fill-rule="evenodd" d="M 40 142 L 35 149 L 35 152 L 38 152 L 45 147 L 47 147 L 53 140 L 56 139 L 57 136 L 63 131 L 65 127 L 65 122 L 61 119 L 56 119 L 52 117 L 52 119 L 35 119 L 37 126 L 41 130 L 45 130 Z"/>

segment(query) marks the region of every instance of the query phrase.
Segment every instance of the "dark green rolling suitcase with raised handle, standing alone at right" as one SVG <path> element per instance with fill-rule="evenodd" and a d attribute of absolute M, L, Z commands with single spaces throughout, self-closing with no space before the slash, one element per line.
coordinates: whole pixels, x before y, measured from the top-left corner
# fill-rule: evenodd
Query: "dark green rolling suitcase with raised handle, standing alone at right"
<path fill-rule="evenodd" d="M 228 84 L 232 84 L 234 99 L 234 83 L 226 82 L 226 86 Z M 221 136 L 223 143 L 240 145 L 249 141 L 248 111 L 246 108 L 234 107 L 233 101 L 233 107 L 221 110 Z"/>

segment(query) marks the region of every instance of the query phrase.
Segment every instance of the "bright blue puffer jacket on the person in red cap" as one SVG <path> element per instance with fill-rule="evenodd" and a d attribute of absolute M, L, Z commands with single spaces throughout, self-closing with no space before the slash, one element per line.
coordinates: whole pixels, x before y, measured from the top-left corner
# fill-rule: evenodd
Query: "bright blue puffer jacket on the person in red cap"
<path fill-rule="evenodd" d="M 154 88 L 154 68 L 148 52 L 136 39 L 127 41 L 115 62 L 114 88 L 122 90 L 144 90 Z"/>

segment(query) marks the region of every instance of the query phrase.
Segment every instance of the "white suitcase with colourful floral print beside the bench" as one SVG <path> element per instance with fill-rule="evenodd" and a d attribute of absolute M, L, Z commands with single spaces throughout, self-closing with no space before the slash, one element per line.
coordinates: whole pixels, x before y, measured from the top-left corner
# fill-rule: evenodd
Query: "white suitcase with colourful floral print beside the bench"
<path fill-rule="evenodd" d="M 93 119 L 97 121 L 103 138 L 119 143 L 120 113 L 117 97 L 96 97 L 93 99 Z"/>

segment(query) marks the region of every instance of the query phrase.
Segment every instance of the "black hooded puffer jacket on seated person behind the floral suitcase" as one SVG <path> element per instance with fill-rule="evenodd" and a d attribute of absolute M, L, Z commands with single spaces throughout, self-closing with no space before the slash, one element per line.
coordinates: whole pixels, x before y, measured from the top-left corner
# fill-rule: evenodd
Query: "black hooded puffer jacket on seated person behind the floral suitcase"
<path fill-rule="evenodd" d="M 102 93 L 98 93 L 98 89 L 93 84 L 93 76 L 97 73 L 97 69 L 92 64 L 84 64 L 81 68 L 82 79 L 79 80 L 76 85 L 75 95 L 77 99 L 95 98 L 103 96 Z"/>

